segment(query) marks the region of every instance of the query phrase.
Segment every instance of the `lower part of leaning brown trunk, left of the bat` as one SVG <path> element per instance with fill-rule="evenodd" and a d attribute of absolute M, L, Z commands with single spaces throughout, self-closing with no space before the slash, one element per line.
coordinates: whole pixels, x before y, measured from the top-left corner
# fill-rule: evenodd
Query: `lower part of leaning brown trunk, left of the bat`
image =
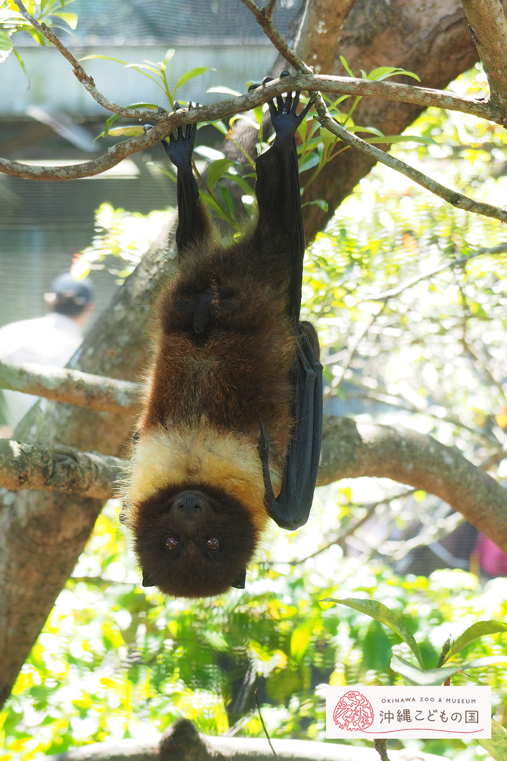
<path fill-rule="evenodd" d="M 173 268 L 173 220 L 95 323 L 71 368 L 138 381 L 149 352 L 157 288 Z M 14 437 L 125 455 L 133 412 L 122 415 L 40 400 Z M 3 502 L 3 504 L 2 504 Z M 84 548 L 103 501 L 58 492 L 0 494 L 0 705 Z"/>

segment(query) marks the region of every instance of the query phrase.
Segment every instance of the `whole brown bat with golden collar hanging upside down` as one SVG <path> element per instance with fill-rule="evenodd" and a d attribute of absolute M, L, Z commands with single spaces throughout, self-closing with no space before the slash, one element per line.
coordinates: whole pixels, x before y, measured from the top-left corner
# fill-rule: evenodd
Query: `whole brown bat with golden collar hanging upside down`
<path fill-rule="evenodd" d="M 178 169 L 178 269 L 158 302 L 121 520 L 143 585 L 176 597 L 243 588 L 269 518 L 293 530 L 312 506 L 322 365 L 315 329 L 299 322 L 294 135 L 312 100 L 299 115 L 298 103 L 289 93 L 269 104 L 276 136 L 257 160 L 258 222 L 233 245 L 220 242 L 199 200 L 196 126 L 162 141 Z"/>

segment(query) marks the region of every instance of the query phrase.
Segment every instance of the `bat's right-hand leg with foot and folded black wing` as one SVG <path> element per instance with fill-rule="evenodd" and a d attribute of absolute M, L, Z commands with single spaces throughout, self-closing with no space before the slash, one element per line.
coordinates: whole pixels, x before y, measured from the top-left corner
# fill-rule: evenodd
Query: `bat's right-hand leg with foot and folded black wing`
<path fill-rule="evenodd" d="M 293 382 L 294 427 L 287 452 L 280 494 L 275 497 L 269 473 L 269 442 L 264 425 L 258 439 L 265 486 L 265 506 L 282 528 L 294 530 L 308 521 L 317 480 L 322 441 L 322 365 L 318 361 L 318 339 L 310 323 L 299 322 L 301 308 L 305 237 L 299 169 L 294 134 L 312 100 L 302 114 L 296 115 L 299 94 L 277 98 L 270 103 L 271 122 L 276 138 L 270 150 L 257 161 L 259 219 L 255 237 L 284 236 L 288 272 L 288 311 L 295 323 L 296 361 L 291 371 Z"/>

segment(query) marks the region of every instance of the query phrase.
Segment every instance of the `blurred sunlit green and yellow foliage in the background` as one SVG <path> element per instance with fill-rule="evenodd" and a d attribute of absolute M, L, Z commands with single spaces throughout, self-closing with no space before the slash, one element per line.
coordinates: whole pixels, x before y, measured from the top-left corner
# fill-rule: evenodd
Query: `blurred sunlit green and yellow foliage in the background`
<path fill-rule="evenodd" d="M 483 84 L 475 68 L 452 89 L 479 94 Z M 435 144 L 397 145 L 401 158 L 443 184 L 507 205 L 507 139 L 498 126 L 429 109 L 410 134 Z M 133 260 L 122 250 L 133 249 L 119 240 L 128 215 L 109 209 L 101 219 L 111 234 L 100 264 L 108 266 L 116 250 L 114 266 L 125 276 Z M 506 240 L 501 223 L 451 209 L 375 167 L 310 247 L 303 304 L 303 316 L 318 326 L 328 399 L 346 414 L 429 433 L 500 480 L 507 476 L 507 254 L 453 263 Z M 429 275 L 442 265 L 450 266 Z M 0 761 L 144 737 L 179 716 L 211 734 L 261 736 L 255 687 L 271 735 L 322 740 L 322 685 L 401 683 L 389 663 L 409 654 L 391 629 L 318 603 L 323 597 L 384 603 L 414 634 L 426 668 L 436 667 L 449 635 L 477 620 L 507 620 L 505 578 L 481 586 L 460 570 L 403 577 L 385 564 L 403 557 L 414 517 L 433 526 L 442 510 L 431 495 L 401 489 L 387 479 L 318 489 L 304 531 L 272 528 L 245 591 L 196 602 L 164 600 L 140 586 L 119 505 L 109 501 L 0 715 Z M 375 502 L 375 519 L 354 530 Z M 502 653 L 505 635 L 495 634 L 459 656 Z M 507 725 L 506 677 L 497 664 L 456 674 L 452 683 L 492 686 L 496 719 Z M 456 761 L 484 757 L 461 740 L 405 744 Z"/>

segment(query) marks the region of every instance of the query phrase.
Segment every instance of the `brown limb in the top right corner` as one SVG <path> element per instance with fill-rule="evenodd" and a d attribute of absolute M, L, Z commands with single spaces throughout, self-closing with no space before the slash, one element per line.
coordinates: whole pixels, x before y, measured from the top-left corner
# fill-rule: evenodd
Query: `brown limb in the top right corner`
<path fill-rule="evenodd" d="M 490 84 L 490 102 L 507 107 L 507 21 L 499 0 L 461 0 Z"/>

